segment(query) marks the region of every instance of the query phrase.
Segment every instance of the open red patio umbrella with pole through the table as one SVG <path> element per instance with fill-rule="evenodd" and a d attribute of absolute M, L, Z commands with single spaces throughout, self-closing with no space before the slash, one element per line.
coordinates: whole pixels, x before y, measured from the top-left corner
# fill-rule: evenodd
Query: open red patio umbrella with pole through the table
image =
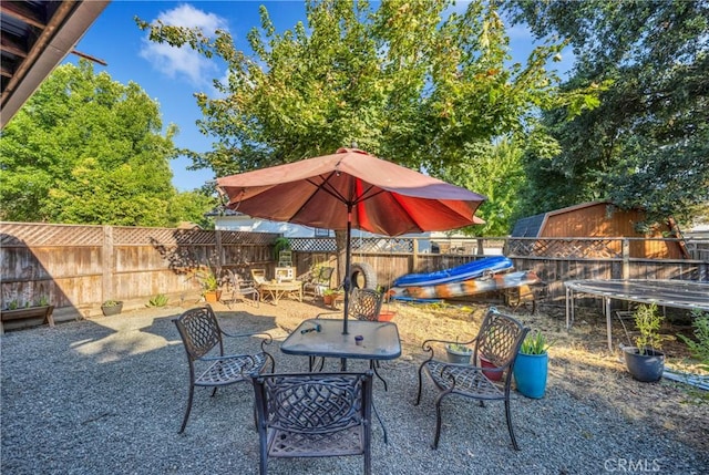
<path fill-rule="evenodd" d="M 484 196 L 354 148 L 225 176 L 217 187 L 246 215 L 347 230 L 346 334 L 352 228 L 399 236 L 484 223 L 474 216 Z"/>

